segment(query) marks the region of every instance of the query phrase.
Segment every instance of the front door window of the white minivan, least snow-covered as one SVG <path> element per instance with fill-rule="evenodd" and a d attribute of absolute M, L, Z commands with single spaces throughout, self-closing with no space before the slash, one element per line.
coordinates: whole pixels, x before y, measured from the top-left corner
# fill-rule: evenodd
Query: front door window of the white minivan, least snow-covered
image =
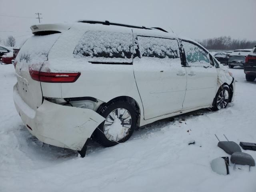
<path fill-rule="evenodd" d="M 199 46 L 190 42 L 182 41 L 182 45 L 186 54 L 187 66 L 208 67 L 210 60 L 208 53 Z"/>

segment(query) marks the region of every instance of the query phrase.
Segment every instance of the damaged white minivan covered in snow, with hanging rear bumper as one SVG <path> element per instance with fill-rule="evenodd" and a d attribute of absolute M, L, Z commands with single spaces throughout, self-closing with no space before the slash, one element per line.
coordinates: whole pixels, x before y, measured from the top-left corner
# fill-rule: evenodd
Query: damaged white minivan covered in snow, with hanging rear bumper
<path fill-rule="evenodd" d="M 83 156 L 136 126 L 201 108 L 226 108 L 235 82 L 193 40 L 108 21 L 31 26 L 15 60 L 14 103 L 31 134 Z M 84 153 L 83 153 L 84 152 Z"/>

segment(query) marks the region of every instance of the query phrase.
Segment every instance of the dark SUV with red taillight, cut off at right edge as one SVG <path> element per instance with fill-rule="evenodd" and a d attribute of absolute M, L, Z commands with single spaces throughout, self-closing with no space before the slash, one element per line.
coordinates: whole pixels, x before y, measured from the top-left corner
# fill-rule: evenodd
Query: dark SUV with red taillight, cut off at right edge
<path fill-rule="evenodd" d="M 254 81 L 256 78 L 256 46 L 246 56 L 244 64 L 244 73 L 247 81 Z"/>

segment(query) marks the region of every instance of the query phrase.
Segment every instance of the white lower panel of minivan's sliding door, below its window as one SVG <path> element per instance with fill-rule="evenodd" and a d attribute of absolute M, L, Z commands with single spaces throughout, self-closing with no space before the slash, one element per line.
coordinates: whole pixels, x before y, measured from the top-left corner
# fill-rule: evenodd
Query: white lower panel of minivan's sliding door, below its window
<path fill-rule="evenodd" d="M 133 62 L 134 75 L 144 106 L 144 118 L 151 119 L 180 112 L 186 92 L 185 68 L 180 61 L 159 63 L 157 58 L 150 60 L 136 58 Z"/>

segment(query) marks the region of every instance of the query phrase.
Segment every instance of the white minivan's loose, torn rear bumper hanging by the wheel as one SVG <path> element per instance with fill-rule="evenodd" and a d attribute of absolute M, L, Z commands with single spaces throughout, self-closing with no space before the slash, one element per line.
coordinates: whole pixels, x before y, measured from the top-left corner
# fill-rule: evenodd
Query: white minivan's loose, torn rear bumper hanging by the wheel
<path fill-rule="evenodd" d="M 13 99 L 29 132 L 38 140 L 58 147 L 81 150 L 86 140 L 105 120 L 93 110 L 62 106 L 47 100 L 33 110 L 20 97 L 17 84 L 14 86 Z"/>

